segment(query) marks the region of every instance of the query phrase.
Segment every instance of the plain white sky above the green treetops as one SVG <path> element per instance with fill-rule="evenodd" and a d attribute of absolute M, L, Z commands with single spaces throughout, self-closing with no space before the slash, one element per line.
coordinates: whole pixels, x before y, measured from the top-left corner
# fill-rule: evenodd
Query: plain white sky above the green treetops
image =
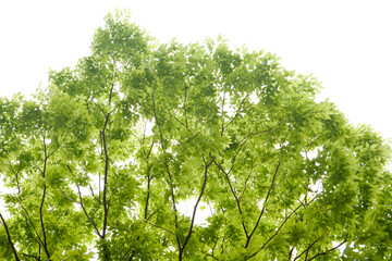
<path fill-rule="evenodd" d="M 314 73 L 348 120 L 392 138 L 392 1 L 25 0 L 0 2 L 0 96 L 32 94 L 48 69 L 88 55 L 91 36 L 115 7 L 162 41 L 225 35 L 233 47 L 266 49 Z"/>

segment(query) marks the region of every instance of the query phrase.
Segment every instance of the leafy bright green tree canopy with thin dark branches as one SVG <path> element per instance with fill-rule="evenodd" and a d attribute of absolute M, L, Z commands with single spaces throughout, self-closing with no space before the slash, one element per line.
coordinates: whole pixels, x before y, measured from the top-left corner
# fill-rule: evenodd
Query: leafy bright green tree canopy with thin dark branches
<path fill-rule="evenodd" d="M 391 258 L 390 147 L 318 91 L 271 53 L 108 15 L 89 57 L 0 100 L 0 257 Z"/>

